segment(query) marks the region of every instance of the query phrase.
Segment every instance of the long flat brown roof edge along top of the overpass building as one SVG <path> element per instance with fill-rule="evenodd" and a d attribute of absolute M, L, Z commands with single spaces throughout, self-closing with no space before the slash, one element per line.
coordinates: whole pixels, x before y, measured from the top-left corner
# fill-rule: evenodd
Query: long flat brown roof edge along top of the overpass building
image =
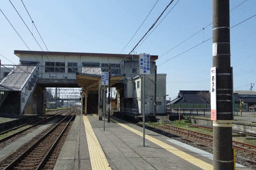
<path fill-rule="evenodd" d="M 57 52 L 57 51 L 24 51 L 15 50 L 14 54 L 20 57 L 20 54 L 30 55 L 51 55 L 51 56 L 85 56 L 85 57 L 120 57 L 125 58 L 127 54 L 107 54 L 107 53 L 80 53 L 80 52 Z M 139 55 L 130 54 L 128 57 L 139 57 Z M 158 59 L 157 55 L 150 55 L 151 61 Z"/>

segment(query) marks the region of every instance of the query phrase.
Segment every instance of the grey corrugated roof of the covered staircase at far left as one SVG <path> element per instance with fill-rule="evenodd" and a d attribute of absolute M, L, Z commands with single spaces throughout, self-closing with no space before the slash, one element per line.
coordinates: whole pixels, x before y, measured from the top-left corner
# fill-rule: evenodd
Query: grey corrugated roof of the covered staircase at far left
<path fill-rule="evenodd" d="M 14 70 L 0 82 L 0 91 L 20 91 L 35 68 L 36 66 L 16 66 Z"/>

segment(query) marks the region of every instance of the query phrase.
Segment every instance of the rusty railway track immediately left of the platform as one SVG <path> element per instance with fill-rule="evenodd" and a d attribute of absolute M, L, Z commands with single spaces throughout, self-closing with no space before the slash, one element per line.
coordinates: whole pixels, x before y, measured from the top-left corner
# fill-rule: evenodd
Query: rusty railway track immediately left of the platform
<path fill-rule="evenodd" d="M 34 139 L 21 146 L 14 153 L 4 158 L 0 162 L 0 169 L 51 169 L 52 159 L 57 160 L 58 158 L 58 156 L 56 156 L 56 153 L 55 155 L 53 155 L 53 157 L 51 157 L 52 154 L 54 154 L 54 149 L 58 145 L 58 142 L 63 138 L 64 133 L 69 127 L 72 119 L 75 117 L 76 112 L 77 109 L 70 111 L 67 116 L 65 116 L 60 122 L 58 122 L 57 125 L 52 127 L 49 131 L 39 134 Z M 63 139 L 62 143 L 64 143 Z M 59 151 L 61 150 L 60 148 L 58 149 Z"/>

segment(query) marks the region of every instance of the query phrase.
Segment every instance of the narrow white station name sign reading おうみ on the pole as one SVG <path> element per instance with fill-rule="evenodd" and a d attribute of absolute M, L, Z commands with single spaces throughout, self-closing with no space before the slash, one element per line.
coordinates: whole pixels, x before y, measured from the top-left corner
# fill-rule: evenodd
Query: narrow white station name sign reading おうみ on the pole
<path fill-rule="evenodd" d="M 216 67 L 211 68 L 211 120 L 217 120 L 217 102 L 216 102 Z"/>

